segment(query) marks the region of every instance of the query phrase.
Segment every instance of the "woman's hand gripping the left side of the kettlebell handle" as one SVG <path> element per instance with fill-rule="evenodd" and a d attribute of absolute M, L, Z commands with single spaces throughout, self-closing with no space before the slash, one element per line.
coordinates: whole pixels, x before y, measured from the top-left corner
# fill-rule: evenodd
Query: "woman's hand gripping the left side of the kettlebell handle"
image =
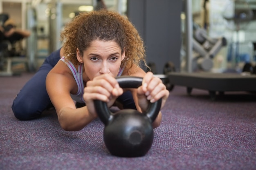
<path fill-rule="evenodd" d="M 103 74 L 86 83 L 83 99 L 85 100 L 89 113 L 94 115 L 97 113 L 95 112 L 93 100 L 97 99 L 106 102 L 108 107 L 110 107 L 123 92 L 115 77 L 110 74 Z"/>

